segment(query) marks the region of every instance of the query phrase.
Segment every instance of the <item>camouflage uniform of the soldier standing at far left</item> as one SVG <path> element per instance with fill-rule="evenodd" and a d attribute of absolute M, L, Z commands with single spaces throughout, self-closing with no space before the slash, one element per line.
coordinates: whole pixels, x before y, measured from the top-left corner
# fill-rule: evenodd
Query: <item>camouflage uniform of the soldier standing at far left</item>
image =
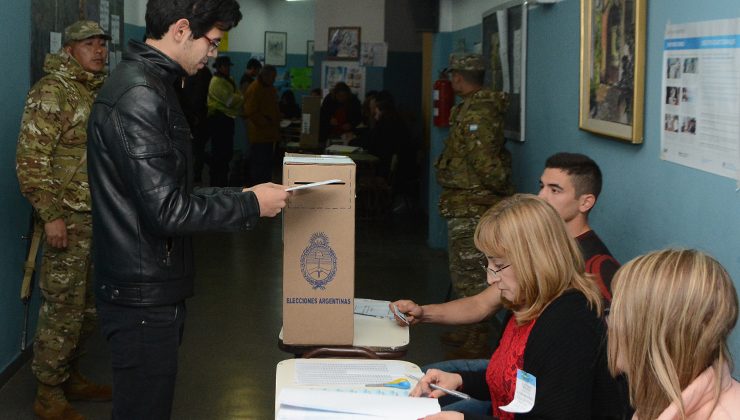
<path fill-rule="evenodd" d="M 88 28 L 89 30 L 89 28 Z M 65 34 L 67 35 L 67 34 Z M 70 375 L 81 343 L 96 322 L 90 276 L 92 219 L 87 165 L 87 119 L 104 76 L 85 71 L 64 50 L 48 54 L 47 75 L 29 91 L 23 113 L 16 172 L 21 192 L 40 227 L 63 219 L 68 247 L 46 247 L 32 370 L 41 383 L 59 385 Z M 59 195 L 69 174 L 76 171 Z"/>

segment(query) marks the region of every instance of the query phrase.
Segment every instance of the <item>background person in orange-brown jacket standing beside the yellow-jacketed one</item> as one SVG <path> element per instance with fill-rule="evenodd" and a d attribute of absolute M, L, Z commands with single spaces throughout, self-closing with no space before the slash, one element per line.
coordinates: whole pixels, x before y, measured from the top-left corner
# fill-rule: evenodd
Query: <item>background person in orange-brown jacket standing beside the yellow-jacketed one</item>
<path fill-rule="evenodd" d="M 267 65 L 257 80 L 247 88 L 244 100 L 244 118 L 251 157 L 249 165 L 252 182 L 269 182 L 272 179 L 275 143 L 280 141 L 280 109 L 277 90 L 273 84 L 277 70 Z"/>

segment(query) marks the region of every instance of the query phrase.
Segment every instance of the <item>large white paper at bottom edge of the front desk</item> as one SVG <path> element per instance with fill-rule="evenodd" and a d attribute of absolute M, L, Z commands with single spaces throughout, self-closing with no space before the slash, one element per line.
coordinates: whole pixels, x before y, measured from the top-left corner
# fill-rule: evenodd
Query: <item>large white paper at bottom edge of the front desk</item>
<path fill-rule="evenodd" d="M 284 388 L 278 397 L 278 419 L 418 419 L 440 412 L 435 398 L 348 394 Z"/>

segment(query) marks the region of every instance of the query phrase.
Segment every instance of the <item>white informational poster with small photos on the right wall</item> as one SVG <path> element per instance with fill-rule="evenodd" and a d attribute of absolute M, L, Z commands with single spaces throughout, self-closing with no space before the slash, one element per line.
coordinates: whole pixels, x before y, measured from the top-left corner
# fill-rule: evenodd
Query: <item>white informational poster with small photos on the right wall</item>
<path fill-rule="evenodd" d="M 738 179 L 740 19 L 666 25 L 661 159 Z"/>

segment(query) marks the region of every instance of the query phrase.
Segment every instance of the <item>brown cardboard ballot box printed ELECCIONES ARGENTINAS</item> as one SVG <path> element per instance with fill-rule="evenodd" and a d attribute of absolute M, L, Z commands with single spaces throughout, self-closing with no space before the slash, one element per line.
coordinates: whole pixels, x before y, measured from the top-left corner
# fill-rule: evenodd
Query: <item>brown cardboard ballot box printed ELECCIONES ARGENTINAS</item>
<path fill-rule="evenodd" d="M 355 292 L 355 164 L 344 156 L 286 154 L 283 210 L 283 342 L 351 345 Z"/>

